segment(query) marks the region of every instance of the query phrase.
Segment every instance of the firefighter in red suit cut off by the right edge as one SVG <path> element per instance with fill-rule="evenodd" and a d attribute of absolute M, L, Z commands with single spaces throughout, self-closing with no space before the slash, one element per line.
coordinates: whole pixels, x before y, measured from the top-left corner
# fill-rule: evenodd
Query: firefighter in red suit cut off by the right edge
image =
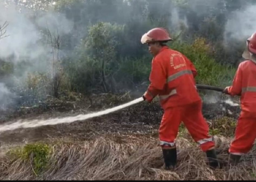
<path fill-rule="evenodd" d="M 247 40 L 247 48 L 242 56 L 246 60 L 239 64 L 232 86 L 223 90 L 231 96 L 241 96 L 241 113 L 235 138 L 229 148 L 231 165 L 236 165 L 241 155 L 252 149 L 256 138 L 256 32 Z"/>

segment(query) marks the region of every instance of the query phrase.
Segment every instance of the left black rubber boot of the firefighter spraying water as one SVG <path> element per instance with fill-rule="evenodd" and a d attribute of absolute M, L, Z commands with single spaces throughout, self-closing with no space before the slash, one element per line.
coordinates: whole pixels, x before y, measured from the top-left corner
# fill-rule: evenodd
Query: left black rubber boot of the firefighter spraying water
<path fill-rule="evenodd" d="M 177 163 L 177 149 L 162 149 L 163 161 L 165 162 L 165 169 L 174 169 Z"/>

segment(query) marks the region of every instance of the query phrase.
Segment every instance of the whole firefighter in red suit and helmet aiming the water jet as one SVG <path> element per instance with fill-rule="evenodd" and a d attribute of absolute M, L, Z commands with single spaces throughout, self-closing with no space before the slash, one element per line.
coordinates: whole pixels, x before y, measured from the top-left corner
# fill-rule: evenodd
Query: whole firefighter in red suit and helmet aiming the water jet
<path fill-rule="evenodd" d="M 164 28 L 153 28 L 142 36 L 154 58 L 151 63 L 150 85 L 143 95 L 149 103 L 159 96 L 164 110 L 159 127 L 159 140 L 166 169 L 177 162 L 175 139 L 183 121 L 195 142 L 206 152 L 209 165 L 219 166 L 213 137 L 208 135 L 208 124 L 202 115 L 202 100 L 197 92 L 197 71 L 191 61 L 165 45 L 172 40 Z"/>

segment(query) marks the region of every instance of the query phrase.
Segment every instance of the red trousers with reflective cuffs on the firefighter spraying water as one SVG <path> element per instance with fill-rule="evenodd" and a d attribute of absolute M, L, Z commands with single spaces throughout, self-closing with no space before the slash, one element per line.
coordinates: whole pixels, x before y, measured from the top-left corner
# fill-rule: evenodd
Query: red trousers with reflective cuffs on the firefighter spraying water
<path fill-rule="evenodd" d="M 202 151 L 205 152 L 215 146 L 213 138 L 208 135 L 209 127 L 203 118 L 201 100 L 185 106 L 170 107 L 164 111 L 159 127 L 160 146 L 175 146 L 174 140 L 181 121 Z"/>

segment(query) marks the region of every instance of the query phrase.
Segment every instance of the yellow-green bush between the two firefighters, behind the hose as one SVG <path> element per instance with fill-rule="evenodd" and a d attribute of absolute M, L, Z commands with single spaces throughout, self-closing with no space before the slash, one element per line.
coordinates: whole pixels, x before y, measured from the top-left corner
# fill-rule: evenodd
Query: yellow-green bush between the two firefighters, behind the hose
<path fill-rule="evenodd" d="M 198 72 L 196 76 L 197 84 L 220 87 L 231 84 L 236 68 L 217 63 L 210 56 L 211 47 L 206 44 L 205 39 L 197 38 L 193 44 L 174 41 L 170 44 L 170 47 L 187 56 L 195 65 Z"/>

